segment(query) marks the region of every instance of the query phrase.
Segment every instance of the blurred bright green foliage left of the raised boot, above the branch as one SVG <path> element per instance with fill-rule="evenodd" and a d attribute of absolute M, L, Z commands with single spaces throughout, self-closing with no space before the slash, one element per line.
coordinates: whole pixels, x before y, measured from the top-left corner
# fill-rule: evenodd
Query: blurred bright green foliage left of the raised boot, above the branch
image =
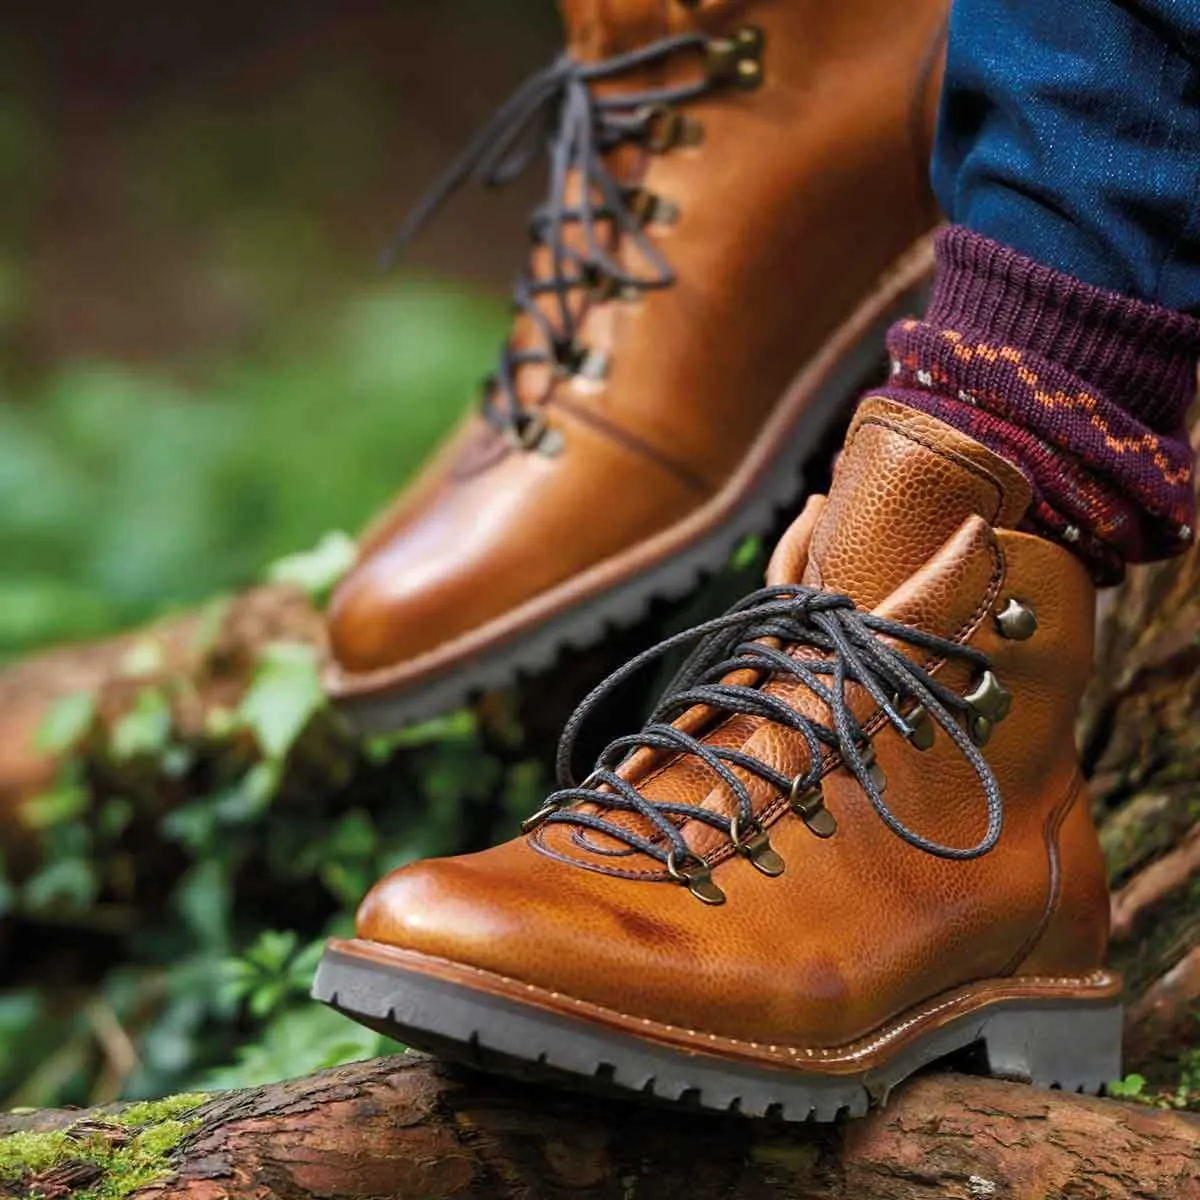
<path fill-rule="evenodd" d="M 320 336 L 181 383 L 62 366 L 0 403 L 0 656 L 274 575 L 320 593 L 355 528 L 478 395 L 490 301 L 401 282 Z"/>

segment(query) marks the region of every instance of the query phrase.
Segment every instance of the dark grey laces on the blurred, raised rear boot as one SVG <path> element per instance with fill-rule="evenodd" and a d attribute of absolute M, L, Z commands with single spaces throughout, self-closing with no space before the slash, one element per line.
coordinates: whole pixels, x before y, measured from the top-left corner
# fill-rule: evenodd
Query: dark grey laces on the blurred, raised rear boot
<path fill-rule="evenodd" d="M 516 308 L 528 316 L 541 335 L 540 346 L 515 349 L 506 344 L 484 395 L 484 415 L 497 428 L 521 434 L 532 414 L 517 395 L 522 366 L 542 364 L 578 366 L 577 316 L 572 293 L 602 282 L 620 292 L 643 292 L 674 283 L 674 272 L 647 235 L 643 218 L 634 210 L 635 190 L 617 181 L 606 156 L 625 142 L 643 139 L 665 106 L 694 100 L 713 84 L 707 77 L 664 88 L 617 95 L 598 95 L 593 85 L 688 50 L 702 50 L 707 38 L 679 34 L 640 49 L 596 62 L 580 62 L 563 54 L 532 76 L 500 106 L 496 115 L 468 143 L 445 174 L 420 200 L 396 233 L 384 254 L 385 265 L 468 180 L 499 186 L 521 174 L 548 134 L 550 199 L 536 210 L 530 226 L 534 241 L 550 247 L 551 269 L 545 278 L 522 274 L 514 290 Z M 568 181 L 578 180 L 578 202 L 566 203 Z M 599 198 L 599 199 L 598 199 Z M 583 230 L 583 247 L 568 245 L 571 226 Z M 616 228 L 637 248 L 648 270 L 638 274 L 604 245 L 602 229 Z M 554 316 L 539 305 L 552 294 Z"/>

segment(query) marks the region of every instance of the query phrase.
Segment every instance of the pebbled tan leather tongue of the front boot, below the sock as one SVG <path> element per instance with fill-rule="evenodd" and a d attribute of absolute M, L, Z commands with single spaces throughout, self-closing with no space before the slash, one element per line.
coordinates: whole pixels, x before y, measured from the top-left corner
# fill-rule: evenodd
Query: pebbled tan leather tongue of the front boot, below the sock
<path fill-rule="evenodd" d="M 1004 458 L 917 409 L 871 397 L 846 434 L 803 582 L 874 608 L 967 517 L 1013 528 L 1030 499 Z"/>

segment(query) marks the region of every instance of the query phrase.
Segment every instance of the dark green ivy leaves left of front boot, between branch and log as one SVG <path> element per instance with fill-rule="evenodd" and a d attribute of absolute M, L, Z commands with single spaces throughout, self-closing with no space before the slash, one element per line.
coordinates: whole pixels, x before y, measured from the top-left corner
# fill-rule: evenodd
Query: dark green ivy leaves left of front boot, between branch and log
<path fill-rule="evenodd" d="M 0 992 L 0 1108 L 250 1086 L 386 1052 L 308 1000 L 324 938 L 350 932 L 386 871 L 505 836 L 544 788 L 467 712 L 358 743 L 304 646 L 265 647 L 199 739 L 175 718 L 181 686 L 133 691 L 108 725 L 83 700 L 47 719 L 43 743 L 73 755 L 32 809 L 41 868 L 0 899 L 54 930 L 56 974 L 83 974 Z M 96 937 L 103 970 L 72 968 Z M 115 1079 L 114 1030 L 132 1050 Z"/>

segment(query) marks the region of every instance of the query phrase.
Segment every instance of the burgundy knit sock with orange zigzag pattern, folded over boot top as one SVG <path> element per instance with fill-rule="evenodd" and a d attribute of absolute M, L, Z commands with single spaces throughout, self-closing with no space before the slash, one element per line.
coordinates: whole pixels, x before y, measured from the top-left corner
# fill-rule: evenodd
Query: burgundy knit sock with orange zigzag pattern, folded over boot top
<path fill-rule="evenodd" d="M 1186 414 L 1200 320 L 952 227 L 937 239 L 924 320 L 894 325 L 888 350 L 883 395 L 1020 467 L 1030 527 L 1075 551 L 1097 582 L 1192 541 Z"/>

